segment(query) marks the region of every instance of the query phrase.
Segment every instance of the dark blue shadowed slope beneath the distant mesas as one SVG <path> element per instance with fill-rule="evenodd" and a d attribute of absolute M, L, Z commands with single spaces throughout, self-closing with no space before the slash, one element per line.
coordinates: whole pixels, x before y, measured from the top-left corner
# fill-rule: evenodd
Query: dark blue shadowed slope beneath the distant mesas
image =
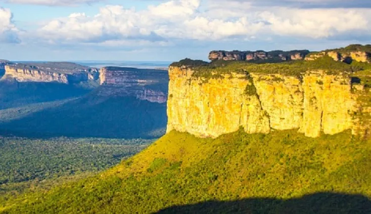
<path fill-rule="evenodd" d="M 166 103 L 91 93 L 0 123 L 0 134 L 38 138 L 156 138 L 164 134 L 166 122 Z"/>

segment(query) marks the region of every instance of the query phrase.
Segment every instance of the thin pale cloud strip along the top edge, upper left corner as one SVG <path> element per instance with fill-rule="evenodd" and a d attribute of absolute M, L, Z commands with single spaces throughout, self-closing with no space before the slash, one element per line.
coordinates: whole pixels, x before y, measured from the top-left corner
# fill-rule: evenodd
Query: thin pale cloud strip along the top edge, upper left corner
<path fill-rule="evenodd" d="M 0 0 L 6 3 L 17 3 L 17 4 L 37 4 L 37 5 L 48 5 L 48 6 L 76 6 L 83 3 L 95 3 L 104 0 Z"/>

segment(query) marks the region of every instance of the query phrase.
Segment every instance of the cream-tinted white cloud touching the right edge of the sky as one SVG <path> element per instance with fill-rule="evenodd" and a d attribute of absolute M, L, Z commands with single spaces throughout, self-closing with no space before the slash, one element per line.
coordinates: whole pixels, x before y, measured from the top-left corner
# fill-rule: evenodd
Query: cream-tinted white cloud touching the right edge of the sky
<path fill-rule="evenodd" d="M 274 34 L 328 38 L 351 31 L 370 34 L 370 9 L 279 9 L 262 12 Z M 341 14 L 341 15 L 339 15 Z"/>

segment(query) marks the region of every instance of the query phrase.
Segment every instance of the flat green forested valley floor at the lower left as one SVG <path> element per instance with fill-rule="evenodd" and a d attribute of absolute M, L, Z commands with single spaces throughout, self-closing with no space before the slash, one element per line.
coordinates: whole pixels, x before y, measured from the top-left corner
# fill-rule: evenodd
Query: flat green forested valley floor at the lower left
<path fill-rule="evenodd" d="M 0 184 L 101 171 L 145 148 L 152 140 L 66 137 L 0 139 Z"/>

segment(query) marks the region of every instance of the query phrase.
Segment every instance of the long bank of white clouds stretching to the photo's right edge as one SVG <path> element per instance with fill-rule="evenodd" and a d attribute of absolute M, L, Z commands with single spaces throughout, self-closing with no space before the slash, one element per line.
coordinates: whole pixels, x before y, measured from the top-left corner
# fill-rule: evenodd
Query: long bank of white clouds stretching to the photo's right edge
<path fill-rule="evenodd" d="M 319 0 L 283 1 L 320 3 Z M 72 13 L 50 20 L 38 33 L 49 43 L 167 45 L 180 40 L 254 40 L 272 39 L 275 35 L 344 38 L 355 31 L 370 36 L 370 21 L 369 8 L 267 8 L 254 5 L 254 0 L 208 4 L 201 0 L 168 0 L 144 10 L 106 5 L 94 16 L 83 11 Z"/>

